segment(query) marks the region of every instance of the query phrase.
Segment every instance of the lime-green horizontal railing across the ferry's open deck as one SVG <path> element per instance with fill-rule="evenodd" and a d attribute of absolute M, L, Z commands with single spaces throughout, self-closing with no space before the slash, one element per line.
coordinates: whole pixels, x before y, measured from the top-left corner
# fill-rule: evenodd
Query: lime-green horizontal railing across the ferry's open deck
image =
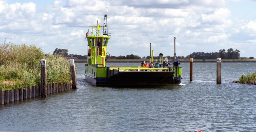
<path fill-rule="evenodd" d="M 160 72 L 160 71 L 166 71 L 166 72 L 172 72 L 171 67 L 168 68 L 146 68 L 146 67 L 110 67 L 110 69 L 120 70 L 121 72 L 135 72 L 140 70 L 148 70 L 151 72 Z"/>

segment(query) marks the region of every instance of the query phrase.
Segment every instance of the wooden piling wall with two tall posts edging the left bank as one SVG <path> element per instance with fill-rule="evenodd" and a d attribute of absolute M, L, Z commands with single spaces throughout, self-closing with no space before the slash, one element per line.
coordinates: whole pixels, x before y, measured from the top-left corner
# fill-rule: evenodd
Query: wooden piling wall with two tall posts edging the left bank
<path fill-rule="evenodd" d="M 10 102 L 17 102 L 21 100 L 27 100 L 31 98 L 46 98 L 47 95 L 68 91 L 71 89 L 77 89 L 76 72 L 74 59 L 70 59 L 70 83 L 52 83 L 47 85 L 47 69 L 46 60 L 41 61 L 41 85 L 30 86 L 28 88 L 12 89 L 6 91 L 0 91 L 0 105 L 9 104 Z"/>

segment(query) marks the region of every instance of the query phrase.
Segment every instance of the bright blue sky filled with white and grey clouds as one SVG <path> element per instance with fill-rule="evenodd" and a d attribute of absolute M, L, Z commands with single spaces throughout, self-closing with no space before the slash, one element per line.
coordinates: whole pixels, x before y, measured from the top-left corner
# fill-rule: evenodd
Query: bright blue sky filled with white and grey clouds
<path fill-rule="evenodd" d="M 256 57 L 256 0 L 0 0 L 0 43 L 85 55 L 106 5 L 112 56 L 149 56 L 150 43 L 154 56 L 173 56 L 176 37 L 177 56 L 233 48 Z"/>

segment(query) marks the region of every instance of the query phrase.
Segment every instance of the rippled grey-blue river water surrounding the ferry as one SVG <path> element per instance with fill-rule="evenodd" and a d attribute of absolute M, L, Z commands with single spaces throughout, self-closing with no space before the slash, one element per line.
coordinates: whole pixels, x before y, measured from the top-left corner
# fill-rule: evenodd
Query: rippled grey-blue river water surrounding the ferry
<path fill-rule="evenodd" d="M 96 87 L 76 63 L 78 89 L 0 106 L 0 131 L 256 131 L 256 85 L 229 83 L 256 63 L 181 63 L 183 85 Z M 108 63 L 139 66 L 140 63 Z"/>

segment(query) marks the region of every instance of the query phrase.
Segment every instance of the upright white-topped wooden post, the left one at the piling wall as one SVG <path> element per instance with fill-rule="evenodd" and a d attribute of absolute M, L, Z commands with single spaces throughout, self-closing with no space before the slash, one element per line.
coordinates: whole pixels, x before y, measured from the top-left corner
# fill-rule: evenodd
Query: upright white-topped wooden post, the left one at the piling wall
<path fill-rule="evenodd" d="M 41 97 L 46 98 L 47 97 L 47 70 L 46 70 L 46 60 L 40 60 L 41 61 Z"/>

